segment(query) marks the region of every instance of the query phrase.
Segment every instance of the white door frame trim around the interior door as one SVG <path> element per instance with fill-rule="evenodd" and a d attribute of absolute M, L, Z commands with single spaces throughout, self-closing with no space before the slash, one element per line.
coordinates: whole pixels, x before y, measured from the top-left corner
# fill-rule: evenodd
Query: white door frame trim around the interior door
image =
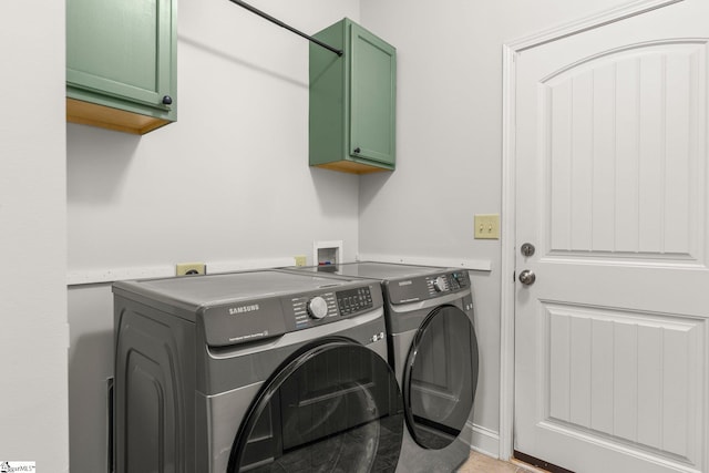
<path fill-rule="evenodd" d="M 516 167 L 516 65 L 522 51 L 566 37 L 625 20 L 684 0 L 637 0 L 551 30 L 503 44 L 502 100 L 502 261 L 500 321 L 500 459 L 510 460 L 514 450 L 514 309 L 515 309 L 515 167 Z"/>

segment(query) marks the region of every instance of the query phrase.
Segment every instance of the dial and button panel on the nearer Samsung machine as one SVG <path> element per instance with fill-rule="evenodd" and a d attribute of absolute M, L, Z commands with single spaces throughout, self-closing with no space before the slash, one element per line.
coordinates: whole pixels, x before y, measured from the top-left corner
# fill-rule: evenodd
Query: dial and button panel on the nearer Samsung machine
<path fill-rule="evenodd" d="M 296 330 L 357 316 L 374 308 L 370 286 L 291 297 Z"/>

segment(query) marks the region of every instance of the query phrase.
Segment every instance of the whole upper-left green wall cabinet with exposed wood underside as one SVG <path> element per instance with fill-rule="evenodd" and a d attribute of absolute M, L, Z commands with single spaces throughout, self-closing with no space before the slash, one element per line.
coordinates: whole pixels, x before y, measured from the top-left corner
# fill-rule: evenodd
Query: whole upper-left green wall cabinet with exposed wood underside
<path fill-rule="evenodd" d="M 66 119 L 147 133 L 177 119 L 177 0 L 66 0 Z"/>

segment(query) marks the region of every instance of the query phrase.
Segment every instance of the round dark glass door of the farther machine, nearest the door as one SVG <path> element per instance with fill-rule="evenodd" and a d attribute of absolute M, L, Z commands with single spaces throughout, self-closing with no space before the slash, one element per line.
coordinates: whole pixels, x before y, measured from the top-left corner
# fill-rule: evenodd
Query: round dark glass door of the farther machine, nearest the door
<path fill-rule="evenodd" d="M 425 318 L 409 350 L 403 400 L 411 436 L 443 449 L 460 435 L 477 385 L 477 339 L 467 315 L 439 306 Z"/>

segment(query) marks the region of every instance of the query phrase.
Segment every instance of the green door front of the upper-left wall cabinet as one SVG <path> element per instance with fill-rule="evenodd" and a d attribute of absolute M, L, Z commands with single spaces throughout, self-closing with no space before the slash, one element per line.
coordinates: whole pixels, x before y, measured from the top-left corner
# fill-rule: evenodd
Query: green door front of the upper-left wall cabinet
<path fill-rule="evenodd" d="M 70 0 L 66 82 L 80 91 L 168 109 L 173 7 L 168 0 Z"/>

